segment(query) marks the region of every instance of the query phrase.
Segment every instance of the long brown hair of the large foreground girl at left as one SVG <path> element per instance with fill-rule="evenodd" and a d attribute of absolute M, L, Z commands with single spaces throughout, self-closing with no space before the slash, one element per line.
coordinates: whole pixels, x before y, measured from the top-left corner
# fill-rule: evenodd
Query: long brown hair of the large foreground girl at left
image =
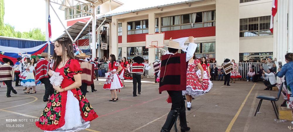
<path fill-rule="evenodd" d="M 53 54 L 53 60 L 54 60 L 54 66 L 53 71 L 59 66 L 60 62 L 62 61 L 62 58 L 65 57 L 65 52 L 67 52 L 67 57 L 69 59 L 74 59 L 74 53 L 73 53 L 73 43 L 68 37 L 60 37 L 55 42 L 58 42 L 59 46 L 62 47 L 62 57 L 57 56 L 56 52 Z M 67 50 L 65 50 L 67 49 Z"/>

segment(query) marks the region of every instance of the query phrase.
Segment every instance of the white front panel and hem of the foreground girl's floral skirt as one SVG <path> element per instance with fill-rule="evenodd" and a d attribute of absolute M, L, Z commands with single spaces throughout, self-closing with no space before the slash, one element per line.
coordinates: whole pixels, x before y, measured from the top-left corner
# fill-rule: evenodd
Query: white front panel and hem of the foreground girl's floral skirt
<path fill-rule="evenodd" d="M 90 121 L 85 122 L 80 114 L 79 101 L 73 96 L 71 90 L 68 90 L 64 126 L 53 131 L 44 132 L 76 132 L 89 128 Z"/>

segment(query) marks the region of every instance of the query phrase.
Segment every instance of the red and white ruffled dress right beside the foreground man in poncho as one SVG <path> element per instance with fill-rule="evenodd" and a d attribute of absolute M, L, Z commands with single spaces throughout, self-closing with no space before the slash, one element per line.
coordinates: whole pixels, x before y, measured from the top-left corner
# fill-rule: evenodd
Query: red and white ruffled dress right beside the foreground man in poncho
<path fill-rule="evenodd" d="M 194 60 L 192 64 L 188 63 L 187 73 L 186 73 L 186 90 L 182 91 L 182 94 L 191 96 L 200 96 L 209 92 L 212 87 L 209 87 L 209 81 L 202 80 L 199 81 L 199 77 L 196 74 L 197 64 L 200 63 L 198 59 Z"/>

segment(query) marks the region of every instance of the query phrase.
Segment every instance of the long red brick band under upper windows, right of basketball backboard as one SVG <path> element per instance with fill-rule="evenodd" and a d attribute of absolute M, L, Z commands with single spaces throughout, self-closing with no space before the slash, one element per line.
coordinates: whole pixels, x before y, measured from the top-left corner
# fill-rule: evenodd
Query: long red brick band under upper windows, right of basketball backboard
<path fill-rule="evenodd" d="M 170 37 L 172 37 L 172 39 L 178 39 L 181 37 L 189 37 L 189 36 L 193 36 L 193 37 L 216 36 L 216 27 L 165 31 L 165 40 L 169 40 Z"/>

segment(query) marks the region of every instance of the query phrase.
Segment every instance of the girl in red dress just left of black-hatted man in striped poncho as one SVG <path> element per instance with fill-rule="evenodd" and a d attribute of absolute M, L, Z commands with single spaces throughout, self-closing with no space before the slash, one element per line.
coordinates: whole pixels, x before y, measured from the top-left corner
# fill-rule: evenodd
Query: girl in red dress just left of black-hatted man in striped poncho
<path fill-rule="evenodd" d="M 125 87 L 124 80 L 126 80 L 126 79 L 132 80 L 132 76 L 129 73 L 129 71 L 127 70 L 130 67 L 130 65 L 129 65 L 129 62 L 126 61 L 126 57 L 122 58 L 120 66 L 122 67 L 122 70 L 119 73 L 119 77 L 122 80 L 123 87 Z"/>

